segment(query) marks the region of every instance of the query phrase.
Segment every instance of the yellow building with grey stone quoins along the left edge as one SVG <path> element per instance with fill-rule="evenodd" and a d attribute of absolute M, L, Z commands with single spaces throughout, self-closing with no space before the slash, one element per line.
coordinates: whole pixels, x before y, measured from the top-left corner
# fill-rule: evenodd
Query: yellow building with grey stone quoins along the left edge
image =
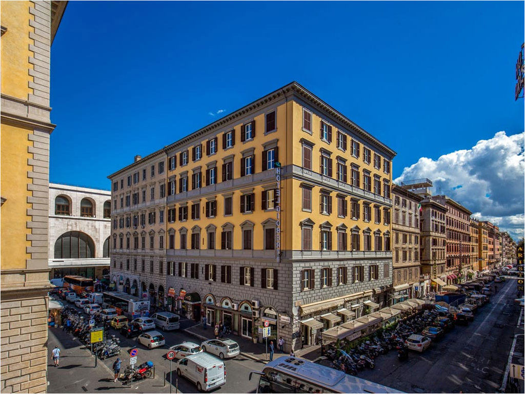
<path fill-rule="evenodd" d="M 50 49 L 66 3 L 0 3 L 2 392 L 47 391 Z"/>

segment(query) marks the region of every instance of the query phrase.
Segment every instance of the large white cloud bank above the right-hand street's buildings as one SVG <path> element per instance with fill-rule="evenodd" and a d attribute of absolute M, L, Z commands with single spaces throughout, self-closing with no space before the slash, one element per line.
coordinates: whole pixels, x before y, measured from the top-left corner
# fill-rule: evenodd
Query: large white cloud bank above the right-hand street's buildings
<path fill-rule="evenodd" d="M 437 160 L 421 157 L 405 167 L 395 183 L 429 178 L 434 194 L 446 194 L 482 220 L 499 223 L 514 237 L 523 236 L 525 162 L 524 133 L 496 133 L 470 149 L 451 152 Z M 474 216 L 474 214 L 473 214 Z"/>

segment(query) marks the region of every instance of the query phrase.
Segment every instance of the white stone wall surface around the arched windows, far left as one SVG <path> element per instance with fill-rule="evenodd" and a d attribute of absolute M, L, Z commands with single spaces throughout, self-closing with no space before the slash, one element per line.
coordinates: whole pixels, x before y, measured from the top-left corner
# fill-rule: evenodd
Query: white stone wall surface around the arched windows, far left
<path fill-rule="evenodd" d="M 69 199 L 70 216 L 55 215 L 55 198 L 57 196 L 65 196 Z M 82 198 L 92 200 L 95 217 L 83 218 L 80 216 Z M 68 231 L 81 231 L 90 236 L 95 243 L 95 258 L 102 258 L 104 241 L 111 235 L 111 219 L 104 219 L 103 214 L 104 202 L 106 201 L 111 203 L 111 191 L 109 190 L 49 184 L 49 260 L 53 260 L 55 257 L 56 240 Z"/>

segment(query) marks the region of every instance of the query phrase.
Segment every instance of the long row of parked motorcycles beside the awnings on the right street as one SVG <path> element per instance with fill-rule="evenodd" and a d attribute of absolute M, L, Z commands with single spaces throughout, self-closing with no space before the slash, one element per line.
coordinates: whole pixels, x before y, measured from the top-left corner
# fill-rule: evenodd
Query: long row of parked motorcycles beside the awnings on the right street
<path fill-rule="evenodd" d="M 330 343 L 325 349 L 324 355 L 330 360 L 331 367 L 342 370 L 346 374 L 357 375 L 364 368 L 374 368 L 375 358 L 386 354 L 390 350 L 397 351 L 397 358 L 408 359 L 408 348 L 405 339 L 412 334 L 421 331 L 432 324 L 439 313 L 435 310 L 424 311 L 421 314 L 407 318 L 404 322 L 398 322 L 395 327 L 384 328 L 372 334 L 369 340 L 351 348 L 338 348 Z"/>

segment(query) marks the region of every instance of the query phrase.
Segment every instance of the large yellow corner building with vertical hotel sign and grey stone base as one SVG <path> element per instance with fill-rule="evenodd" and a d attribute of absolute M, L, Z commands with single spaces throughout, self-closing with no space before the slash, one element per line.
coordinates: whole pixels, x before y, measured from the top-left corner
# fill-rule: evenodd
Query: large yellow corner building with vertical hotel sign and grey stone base
<path fill-rule="evenodd" d="M 125 248 L 134 231 L 125 217 L 139 204 L 113 209 L 112 237 L 123 241 L 111 276 L 163 281 L 173 310 L 234 334 L 257 335 L 265 320 L 288 349 L 311 345 L 320 328 L 386 305 L 394 155 L 292 82 L 109 176 L 113 204 L 141 197 L 142 185 L 146 197 L 160 193 L 139 203 L 159 216 L 137 229 L 153 248 Z M 135 270 L 135 255 L 162 261 L 155 279 Z"/>

